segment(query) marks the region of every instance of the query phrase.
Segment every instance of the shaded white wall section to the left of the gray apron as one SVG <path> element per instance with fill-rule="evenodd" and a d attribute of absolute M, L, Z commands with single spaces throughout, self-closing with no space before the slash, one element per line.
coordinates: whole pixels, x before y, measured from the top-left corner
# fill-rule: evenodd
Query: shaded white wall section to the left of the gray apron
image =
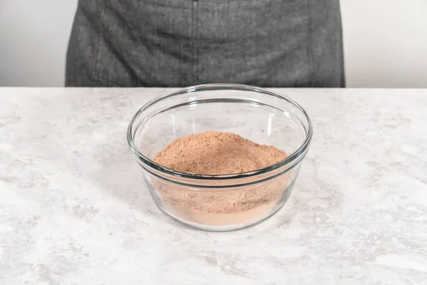
<path fill-rule="evenodd" d="M 63 86 L 77 0 L 0 0 L 0 86 Z"/>

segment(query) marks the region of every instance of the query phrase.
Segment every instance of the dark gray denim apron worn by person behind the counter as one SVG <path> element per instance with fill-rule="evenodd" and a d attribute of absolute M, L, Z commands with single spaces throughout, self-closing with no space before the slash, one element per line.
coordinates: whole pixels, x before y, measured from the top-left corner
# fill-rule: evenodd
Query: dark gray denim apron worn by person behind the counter
<path fill-rule="evenodd" d="M 80 0 L 65 81 L 344 87 L 339 0 Z"/>

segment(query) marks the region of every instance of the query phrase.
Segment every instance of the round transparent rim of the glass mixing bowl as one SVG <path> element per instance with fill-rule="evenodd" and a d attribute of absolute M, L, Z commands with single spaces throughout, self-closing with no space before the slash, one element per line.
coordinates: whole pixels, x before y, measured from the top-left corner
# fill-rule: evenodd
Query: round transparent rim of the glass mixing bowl
<path fill-rule="evenodd" d="M 256 93 L 263 93 L 265 95 L 272 95 L 276 98 L 280 98 L 288 101 L 288 103 L 291 103 L 297 109 L 299 109 L 302 112 L 302 114 L 305 116 L 305 119 L 307 120 L 307 130 L 306 130 L 305 140 L 302 142 L 302 145 L 300 145 L 300 147 L 298 147 L 297 150 L 295 150 L 295 152 L 292 152 L 292 154 L 288 155 L 288 157 L 286 157 L 284 160 L 280 160 L 273 165 L 269 165 L 267 167 L 263 167 L 258 170 L 253 170 L 249 172 L 226 174 L 226 175 L 199 175 L 191 172 L 180 172 L 180 171 L 172 170 L 171 168 L 164 167 L 162 165 L 157 164 L 156 162 L 150 160 L 148 157 L 142 155 L 142 153 L 139 152 L 134 142 L 132 130 L 133 130 L 133 125 L 135 123 L 135 120 L 139 118 L 139 115 L 141 115 L 144 112 L 144 110 L 147 110 L 152 105 L 172 96 L 182 95 L 186 93 L 194 93 L 197 91 L 209 91 L 209 90 L 253 91 Z M 174 90 L 172 92 L 165 93 L 164 95 L 160 95 L 157 98 L 149 100 L 149 102 L 143 105 L 142 108 L 139 108 L 137 113 L 135 113 L 135 115 L 132 117 L 132 120 L 130 120 L 130 123 L 127 127 L 127 143 L 129 144 L 135 159 L 139 159 L 140 162 L 143 162 L 145 165 L 148 165 L 149 167 L 152 167 L 154 168 L 154 170 L 158 170 L 159 172 L 164 172 L 167 175 L 172 175 L 174 177 L 184 177 L 184 178 L 194 179 L 194 180 L 229 180 L 229 179 L 240 179 L 240 178 L 246 178 L 246 177 L 252 177 L 255 175 L 265 174 L 273 170 L 277 170 L 278 168 L 283 167 L 285 165 L 288 165 L 290 164 L 290 162 L 295 162 L 295 160 L 297 160 L 298 157 L 300 157 L 301 155 L 305 155 L 305 152 L 307 151 L 310 145 L 310 142 L 312 140 L 312 133 L 313 133 L 313 128 L 312 128 L 312 123 L 309 115 L 307 114 L 307 112 L 305 112 L 304 108 L 302 108 L 300 104 L 298 104 L 297 102 L 295 102 L 295 100 L 292 100 L 288 96 L 285 96 L 273 90 L 268 90 L 268 89 L 260 88 L 257 86 L 250 86 L 245 84 L 234 84 L 234 83 L 210 83 L 210 84 L 180 88 L 179 90 Z M 141 165 L 141 163 L 139 164 Z"/>

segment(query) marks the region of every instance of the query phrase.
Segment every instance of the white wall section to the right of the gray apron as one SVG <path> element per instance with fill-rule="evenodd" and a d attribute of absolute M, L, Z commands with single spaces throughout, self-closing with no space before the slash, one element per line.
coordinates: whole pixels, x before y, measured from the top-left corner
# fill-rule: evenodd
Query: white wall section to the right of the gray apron
<path fill-rule="evenodd" d="M 427 87 L 427 0 L 341 0 L 349 87 Z"/>

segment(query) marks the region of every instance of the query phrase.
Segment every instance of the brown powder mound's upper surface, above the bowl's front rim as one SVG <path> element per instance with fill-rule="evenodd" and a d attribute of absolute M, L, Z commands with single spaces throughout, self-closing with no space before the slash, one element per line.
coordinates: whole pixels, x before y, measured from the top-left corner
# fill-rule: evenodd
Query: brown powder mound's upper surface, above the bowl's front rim
<path fill-rule="evenodd" d="M 226 175 L 258 170 L 285 159 L 273 145 L 258 145 L 240 135 L 210 130 L 178 138 L 154 162 L 180 172 Z"/>

